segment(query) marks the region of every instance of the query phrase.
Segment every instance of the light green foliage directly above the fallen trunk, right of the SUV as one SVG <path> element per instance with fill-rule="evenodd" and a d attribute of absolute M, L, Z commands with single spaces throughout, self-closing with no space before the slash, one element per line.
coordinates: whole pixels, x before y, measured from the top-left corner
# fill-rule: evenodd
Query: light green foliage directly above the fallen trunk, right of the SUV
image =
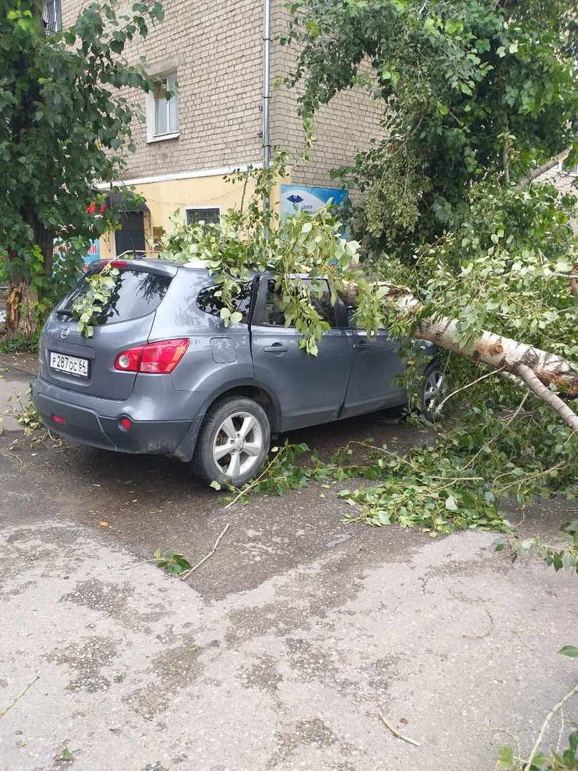
<path fill-rule="evenodd" d="M 462 345 L 489 328 L 576 359 L 578 305 L 568 284 L 576 254 L 574 204 L 548 184 L 529 191 L 473 187 L 459 227 L 418 249 L 411 268 L 398 262 L 400 278 L 411 281 L 415 274 L 422 318 L 451 312 Z M 395 264 L 388 268 L 394 281 Z"/>

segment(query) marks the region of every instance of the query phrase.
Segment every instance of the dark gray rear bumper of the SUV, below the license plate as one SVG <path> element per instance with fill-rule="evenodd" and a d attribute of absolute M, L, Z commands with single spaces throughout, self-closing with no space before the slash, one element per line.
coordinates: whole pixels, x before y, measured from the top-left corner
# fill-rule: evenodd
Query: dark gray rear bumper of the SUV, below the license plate
<path fill-rule="evenodd" d="M 49 386 L 49 390 L 52 387 Z M 111 402 L 106 401 L 107 412 L 111 412 Z M 42 423 L 66 439 L 119 453 L 167 455 L 179 460 L 190 460 L 193 456 L 203 420 L 203 416 L 196 416 L 193 420 L 135 420 L 129 415 L 132 427 L 126 430 L 119 423 L 127 416 L 123 402 L 114 402 L 118 414 L 104 416 L 99 414 L 98 409 L 79 406 L 45 393 L 39 379 L 32 386 L 32 403 Z M 55 421 L 54 416 L 60 420 Z"/>

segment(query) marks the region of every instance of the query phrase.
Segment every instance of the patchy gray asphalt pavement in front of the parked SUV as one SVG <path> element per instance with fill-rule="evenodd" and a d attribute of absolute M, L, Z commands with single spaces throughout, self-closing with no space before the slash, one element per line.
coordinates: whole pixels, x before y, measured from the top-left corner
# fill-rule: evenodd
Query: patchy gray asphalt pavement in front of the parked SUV
<path fill-rule="evenodd" d="M 25 392 L 0 369 L 0 399 Z M 418 438 L 381 415 L 294 439 L 369 434 Z M 183 464 L 17 430 L 0 483 L 2 771 L 486 771 L 576 683 L 556 654 L 578 644 L 576 577 L 512 565 L 492 534 L 345 525 L 316 485 L 223 510 Z M 553 537 L 568 505 L 524 532 Z M 151 561 L 199 561 L 227 523 L 186 581 Z"/>

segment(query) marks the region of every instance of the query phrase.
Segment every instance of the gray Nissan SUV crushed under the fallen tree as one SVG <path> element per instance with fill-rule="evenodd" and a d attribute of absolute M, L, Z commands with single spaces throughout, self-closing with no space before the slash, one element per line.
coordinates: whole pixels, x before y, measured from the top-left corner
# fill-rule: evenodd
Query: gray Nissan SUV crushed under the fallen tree
<path fill-rule="evenodd" d="M 375 338 L 349 322 L 329 291 L 314 303 L 330 325 L 318 356 L 285 325 L 271 274 L 254 274 L 225 327 L 207 268 L 156 260 L 113 261 L 113 293 L 90 338 L 72 304 L 85 279 L 52 311 L 40 339 L 32 401 L 49 429 L 123 453 L 190 462 L 205 483 L 239 486 L 256 475 L 271 436 L 405 403 L 393 379 L 402 361 L 385 330 Z M 102 269 L 102 263 L 92 270 Z M 422 404 L 444 380 L 425 369 Z"/>

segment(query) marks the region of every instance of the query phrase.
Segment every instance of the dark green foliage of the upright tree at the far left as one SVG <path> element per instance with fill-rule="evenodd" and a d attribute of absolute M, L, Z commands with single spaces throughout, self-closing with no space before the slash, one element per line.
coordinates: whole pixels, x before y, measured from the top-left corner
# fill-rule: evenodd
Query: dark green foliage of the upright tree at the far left
<path fill-rule="evenodd" d="M 86 241 L 119 219 L 96 183 L 119 179 L 123 153 L 134 150 L 139 109 L 126 89 L 153 85 L 143 62 L 129 64 L 123 52 L 163 10 L 148 0 L 129 13 L 118 8 L 117 0 L 92 2 L 62 32 L 45 29 L 36 0 L 8 0 L 0 15 L 0 255 L 11 281 L 29 286 L 38 318 L 69 285 Z M 53 271 L 55 237 L 67 249 Z"/>

